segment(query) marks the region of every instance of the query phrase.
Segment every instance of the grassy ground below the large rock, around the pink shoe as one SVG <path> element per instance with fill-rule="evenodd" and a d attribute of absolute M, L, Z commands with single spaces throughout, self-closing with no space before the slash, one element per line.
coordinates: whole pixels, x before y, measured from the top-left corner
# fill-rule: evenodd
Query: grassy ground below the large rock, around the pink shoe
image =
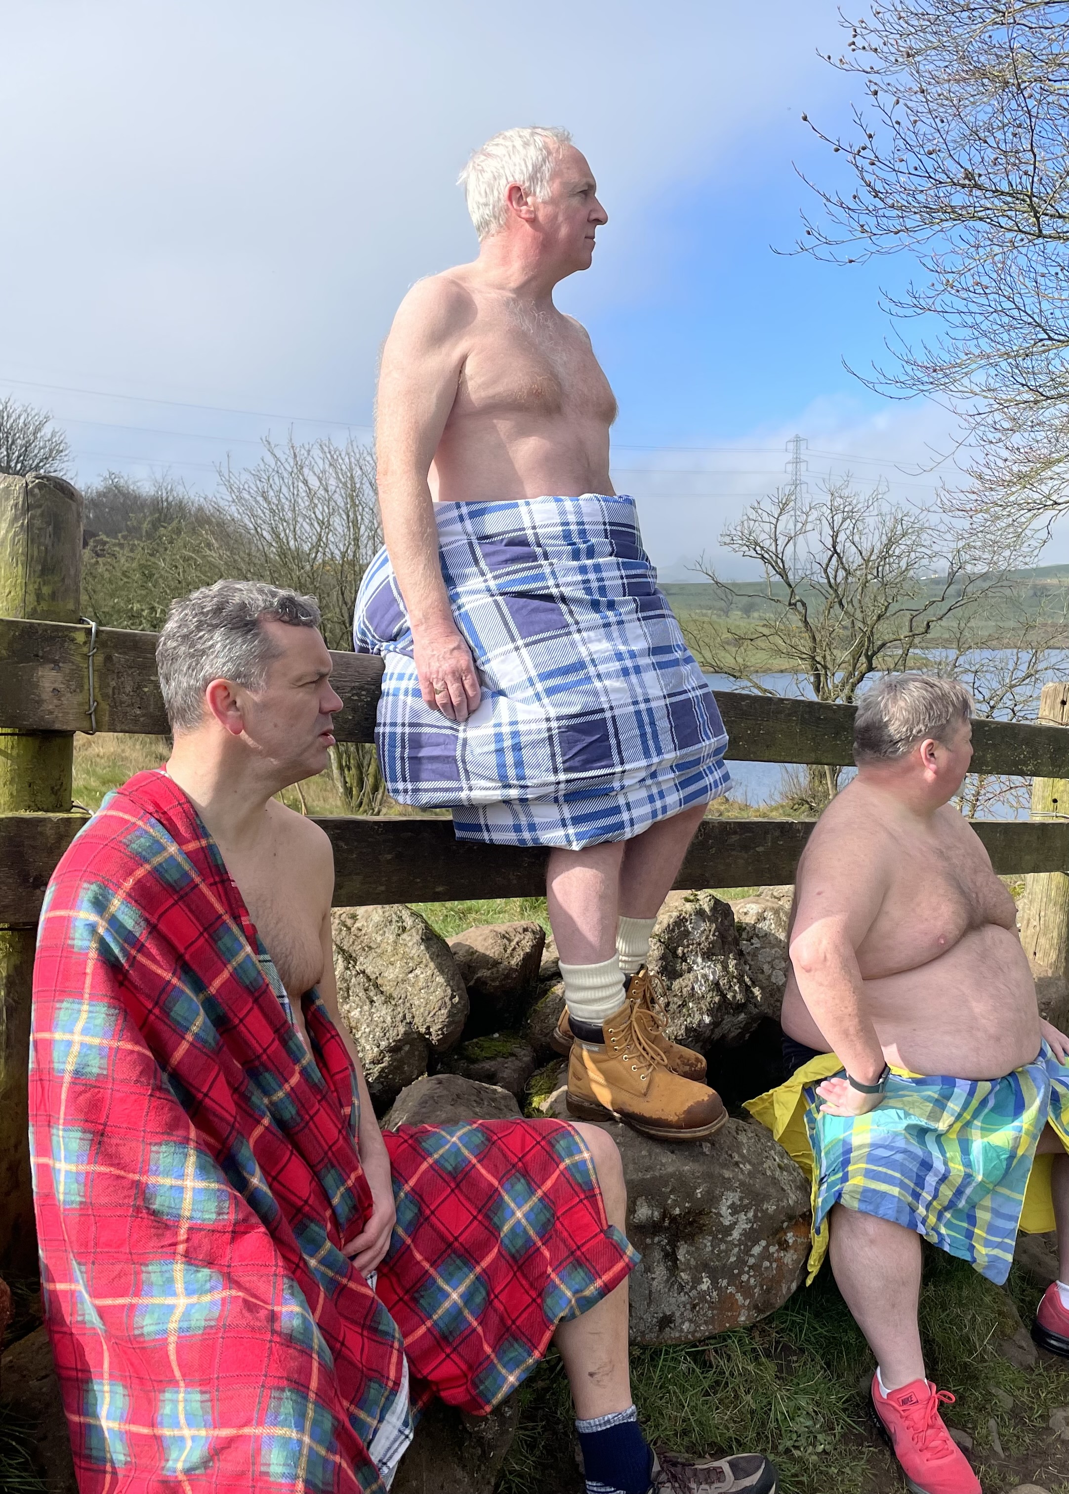
<path fill-rule="evenodd" d="M 947 1421 L 975 1439 L 978 1473 L 987 1494 L 1012 1488 L 1026 1475 L 991 1461 L 988 1418 L 994 1416 L 1009 1460 L 1033 1452 L 1030 1472 L 1050 1452 L 1047 1419 L 1069 1403 L 1069 1370 L 1017 1370 L 997 1352 L 1012 1334 L 1011 1298 L 1026 1322 L 1039 1292 L 1014 1271 L 1003 1292 L 972 1267 L 926 1249 L 921 1328 L 929 1374 L 957 1395 Z M 635 1349 L 635 1401 L 651 1442 L 679 1452 L 769 1452 L 782 1475 L 782 1494 L 866 1494 L 899 1488 L 890 1455 L 869 1430 L 867 1382 L 873 1363 L 842 1301 L 830 1270 L 749 1330 L 720 1334 L 687 1348 Z M 864 1388 L 863 1388 L 864 1386 Z M 1005 1409 L 991 1388 L 1012 1397 Z M 520 1391 L 521 1422 L 499 1494 L 557 1494 L 570 1472 L 572 1410 L 555 1355 Z M 554 1461 L 548 1449 L 564 1449 Z M 1054 1491 L 1069 1475 L 1059 1448 L 1047 1478 Z M 1065 1460 L 1065 1466 L 1060 1466 Z M 1030 1476 L 1030 1473 L 1029 1473 Z"/>

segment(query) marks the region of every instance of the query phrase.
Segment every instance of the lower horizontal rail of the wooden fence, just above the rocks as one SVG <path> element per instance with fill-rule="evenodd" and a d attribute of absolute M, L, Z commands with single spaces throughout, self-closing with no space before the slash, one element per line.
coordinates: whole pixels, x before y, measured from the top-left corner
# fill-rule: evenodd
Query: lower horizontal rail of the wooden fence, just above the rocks
<path fill-rule="evenodd" d="M 449 819 L 328 816 L 315 823 L 334 846 L 334 907 L 545 892 L 545 850 L 458 841 Z M 999 872 L 1069 871 L 1069 823 L 972 823 Z M 52 868 L 82 825 L 84 814 L 0 814 L 0 923 L 36 923 Z M 794 881 L 812 826 L 812 820 L 703 820 L 675 886 Z"/>

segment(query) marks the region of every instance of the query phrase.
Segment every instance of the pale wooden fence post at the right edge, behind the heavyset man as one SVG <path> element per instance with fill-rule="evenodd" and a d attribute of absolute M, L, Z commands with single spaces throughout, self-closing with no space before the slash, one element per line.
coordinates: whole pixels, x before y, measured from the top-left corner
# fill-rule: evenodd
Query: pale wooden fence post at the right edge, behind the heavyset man
<path fill-rule="evenodd" d="M 1069 726 L 1069 684 L 1045 684 L 1039 720 Z M 1069 778 L 1032 780 L 1032 819 L 1069 820 Z M 1033 872 L 1024 878 L 1021 944 L 1036 977 L 1042 1016 L 1062 1025 L 1069 1014 L 1069 875 Z"/>

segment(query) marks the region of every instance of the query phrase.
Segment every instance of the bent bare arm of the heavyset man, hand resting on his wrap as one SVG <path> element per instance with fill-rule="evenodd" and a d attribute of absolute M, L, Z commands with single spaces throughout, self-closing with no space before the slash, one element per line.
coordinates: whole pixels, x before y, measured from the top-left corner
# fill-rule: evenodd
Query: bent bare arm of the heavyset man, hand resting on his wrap
<path fill-rule="evenodd" d="M 851 843 L 850 831 L 827 829 L 811 843 L 800 871 L 790 958 L 824 1040 L 848 1074 L 872 1085 L 882 1073 L 884 1052 L 864 1007 L 857 949 L 879 913 L 888 878 L 870 843 Z"/>

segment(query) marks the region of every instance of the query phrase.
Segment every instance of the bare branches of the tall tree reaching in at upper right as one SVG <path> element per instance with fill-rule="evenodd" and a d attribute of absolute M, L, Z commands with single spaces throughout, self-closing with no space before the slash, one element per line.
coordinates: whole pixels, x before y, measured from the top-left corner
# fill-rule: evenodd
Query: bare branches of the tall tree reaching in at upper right
<path fill-rule="evenodd" d="M 939 330 L 899 336 L 875 382 L 960 417 L 970 481 L 950 500 L 1020 532 L 1069 506 L 1069 4 L 887 0 L 844 25 L 829 63 L 863 103 L 847 131 L 814 128 L 850 181 L 815 188 L 800 247 L 917 255 L 885 300 Z"/>

